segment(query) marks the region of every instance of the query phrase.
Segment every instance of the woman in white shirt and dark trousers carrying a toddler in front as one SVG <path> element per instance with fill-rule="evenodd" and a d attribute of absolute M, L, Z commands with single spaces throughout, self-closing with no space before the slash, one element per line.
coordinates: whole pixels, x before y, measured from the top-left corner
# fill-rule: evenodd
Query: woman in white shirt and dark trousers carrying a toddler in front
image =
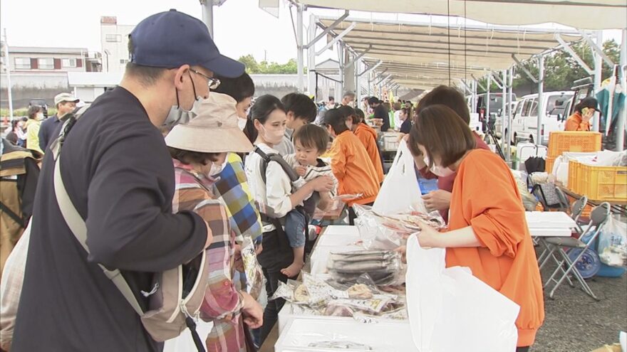
<path fill-rule="evenodd" d="M 244 133 L 261 153 L 279 154 L 274 146 L 284 137 L 286 121 L 287 115 L 281 100 L 272 95 L 263 95 L 255 100 L 251 108 Z M 291 179 L 278 163 L 269 162 L 262 175 L 263 160 L 261 154 L 254 151 L 247 156 L 244 169 L 264 223 L 264 250 L 257 258 L 266 277 L 266 292 L 271 297 L 279 287 L 279 281 L 287 282 L 288 277 L 281 270 L 294 261 L 294 252 L 279 219 L 284 218 L 314 191 L 330 191 L 333 180 L 328 176 L 320 176 L 292 192 Z M 261 327 L 261 343 L 276 323 L 284 304 L 284 299 L 268 302 L 264 311 L 264 326 Z"/>

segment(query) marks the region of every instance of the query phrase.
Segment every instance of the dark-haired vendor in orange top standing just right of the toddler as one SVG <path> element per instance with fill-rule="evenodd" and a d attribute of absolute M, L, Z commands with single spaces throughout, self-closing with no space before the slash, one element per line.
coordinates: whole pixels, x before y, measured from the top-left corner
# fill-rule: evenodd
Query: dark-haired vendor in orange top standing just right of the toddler
<path fill-rule="evenodd" d="M 377 172 L 366 148 L 348 129 L 346 117 L 339 109 L 331 109 L 324 114 L 324 126 L 333 137 L 331 170 L 338 179 L 338 194 L 358 194 L 362 196 L 348 200 L 348 220 L 353 225 L 356 214 L 353 204 L 372 205 L 379 193 Z"/>

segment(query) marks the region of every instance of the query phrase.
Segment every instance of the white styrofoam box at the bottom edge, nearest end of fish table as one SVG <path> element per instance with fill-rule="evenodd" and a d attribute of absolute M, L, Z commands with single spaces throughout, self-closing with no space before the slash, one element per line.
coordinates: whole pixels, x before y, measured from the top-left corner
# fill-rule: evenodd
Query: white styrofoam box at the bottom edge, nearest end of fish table
<path fill-rule="evenodd" d="M 294 319 L 290 321 L 274 345 L 276 352 L 336 352 L 336 348 L 309 347 L 322 341 L 351 341 L 369 346 L 356 352 L 414 352 L 409 322 L 406 324 L 358 324 L 355 321 L 329 319 Z"/>

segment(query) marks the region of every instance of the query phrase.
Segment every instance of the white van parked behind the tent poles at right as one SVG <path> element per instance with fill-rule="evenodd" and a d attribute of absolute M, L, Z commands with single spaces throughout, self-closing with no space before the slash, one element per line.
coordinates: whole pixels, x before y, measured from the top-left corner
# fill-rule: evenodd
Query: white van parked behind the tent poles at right
<path fill-rule="evenodd" d="M 544 92 L 544 119 L 542 120 L 542 140 L 540 144 L 549 144 L 549 132 L 564 131 L 564 122 L 568 118 L 566 108 L 575 92 Z M 522 97 L 516 105 L 512 119 L 512 139 L 526 139 L 534 143 L 538 130 L 538 95 L 530 94 Z"/>

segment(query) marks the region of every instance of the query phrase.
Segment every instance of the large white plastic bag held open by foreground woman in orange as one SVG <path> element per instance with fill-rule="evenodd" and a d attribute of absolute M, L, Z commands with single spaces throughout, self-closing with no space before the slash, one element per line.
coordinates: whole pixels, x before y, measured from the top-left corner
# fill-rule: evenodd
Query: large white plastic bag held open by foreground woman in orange
<path fill-rule="evenodd" d="M 520 307 L 467 267 L 446 268 L 445 250 L 407 244 L 406 288 L 413 340 L 420 352 L 515 351 Z"/>

